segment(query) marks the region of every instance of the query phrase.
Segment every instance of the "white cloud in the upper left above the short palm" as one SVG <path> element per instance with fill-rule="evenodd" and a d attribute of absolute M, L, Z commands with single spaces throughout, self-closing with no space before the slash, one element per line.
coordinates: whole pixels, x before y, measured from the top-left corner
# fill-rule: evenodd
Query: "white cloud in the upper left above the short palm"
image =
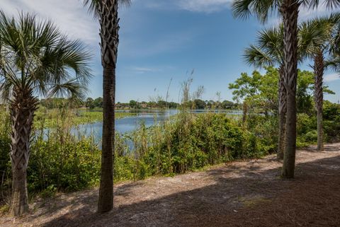
<path fill-rule="evenodd" d="M 72 38 L 88 45 L 99 42 L 98 22 L 81 0 L 1 0 L 1 8 L 8 16 L 16 16 L 20 11 L 36 13 L 39 18 L 49 18 Z"/>

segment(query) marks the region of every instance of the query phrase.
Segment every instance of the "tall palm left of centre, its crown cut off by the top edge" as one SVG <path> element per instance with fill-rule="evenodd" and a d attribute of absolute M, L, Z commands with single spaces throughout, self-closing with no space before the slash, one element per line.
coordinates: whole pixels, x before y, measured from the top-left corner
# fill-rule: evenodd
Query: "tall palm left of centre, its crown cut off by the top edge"
<path fill-rule="evenodd" d="M 115 149 L 115 67 L 119 43 L 118 4 L 130 0 L 84 0 L 84 5 L 99 19 L 101 25 L 101 64 L 103 66 L 103 139 L 101 154 L 101 185 L 98 212 L 113 209 L 113 163 Z"/>

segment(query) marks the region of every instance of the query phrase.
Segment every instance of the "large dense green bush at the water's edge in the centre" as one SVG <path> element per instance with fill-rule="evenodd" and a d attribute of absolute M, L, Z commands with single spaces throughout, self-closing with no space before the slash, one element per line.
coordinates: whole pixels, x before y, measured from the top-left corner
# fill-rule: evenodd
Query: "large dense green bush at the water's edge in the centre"
<path fill-rule="evenodd" d="M 225 114 L 183 112 L 149 129 L 142 124 L 130 139 L 135 141 L 132 151 L 115 160 L 115 180 L 185 173 L 266 154 L 254 133 Z"/>

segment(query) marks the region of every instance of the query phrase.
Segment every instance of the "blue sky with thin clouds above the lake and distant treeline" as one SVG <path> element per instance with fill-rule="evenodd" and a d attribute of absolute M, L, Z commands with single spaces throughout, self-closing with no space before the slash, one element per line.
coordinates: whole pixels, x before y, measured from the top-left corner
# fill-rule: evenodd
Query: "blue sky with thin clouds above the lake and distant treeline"
<path fill-rule="evenodd" d="M 79 0 L 1 0 L 6 13 L 33 11 L 50 18 L 64 33 L 83 40 L 94 54 L 94 78 L 89 96 L 102 95 L 98 23 Z M 228 84 L 241 72 L 251 72 L 242 59 L 244 47 L 256 39 L 263 28 L 255 18 L 242 21 L 232 17 L 231 0 L 135 0 L 129 8 L 120 8 L 120 46 L 117 69 L 117 101 L 165 98 L 179 101 L 181 82 L 194 70 L 195 90 L 203 85 L 203 99 L 232 100 Z M 317 11 L 301 9 L 300 20 L 329 13 L 324 6 Z M 277 24 L 273 17 L 268 25 Z M 307 65 L 300 66 L 308 69 Z M 172 80 L 171 80 L 172 79 Z M 327 71 L 325 81 L 336 91 L 327 99 L 340 99 L 340 79 Z"/>

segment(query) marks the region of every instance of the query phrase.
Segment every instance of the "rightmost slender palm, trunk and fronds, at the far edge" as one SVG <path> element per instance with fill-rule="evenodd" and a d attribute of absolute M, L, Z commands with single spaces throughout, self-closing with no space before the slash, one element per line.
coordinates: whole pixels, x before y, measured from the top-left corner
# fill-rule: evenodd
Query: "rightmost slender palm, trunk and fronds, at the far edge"
<path fill-rule="evenodd" d="M 322 132 L 323 76 L 325 55 L 331 51 L 334 43 L 334 32 L 340 23 L 340 14 L 329 17 L 315 18 L 300 26 L 301 40 L 305 44 L 306 54 L 314 61 L 314 100 L 317 110 L 317 150 L 324 149 Z"/>

